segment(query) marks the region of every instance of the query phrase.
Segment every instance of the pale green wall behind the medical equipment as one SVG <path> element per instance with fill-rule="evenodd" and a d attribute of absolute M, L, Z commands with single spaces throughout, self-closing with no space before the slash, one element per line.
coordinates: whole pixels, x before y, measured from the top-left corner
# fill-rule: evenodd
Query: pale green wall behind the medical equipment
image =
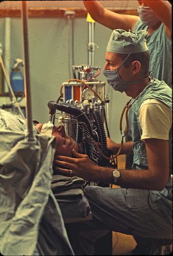
<path fill-rule="evenodd" d="M 5 1 L 6 2 L 6 1 Z M 3 3 L 5 3 L 3 2 Z M 33 2 L 33 1 L 30 1 Z M 40 1 L 34 1 L 40 2 Z M 52 2 L 52 1 L 43 1 Z M 54 1 L 53 1 L 54 2 Z M 57 4 L 67 5 L 64 2 L 81 1 L 55 1 Z M 54 3 L 55 3 L 54 2 Z M 61 2 L 61 3 L 59 3 Z M 137 2 L 137 1 L 100 1 L 100 2 Z M 0 7 L 3 7 L 1 3 Z M 7 2 L 8 5 L 11 2 Z M 6 4 L 7 4 L 6 3 Z M 14 1 L 13 1 L 14 3 Z M 17 3 L 19 4 L 19 3 Z M 46 3 L 45 3 L 46 4 Z M 122 3 L 121 3 L 122 4 Z M 31 4 L 30 4 L 31 5 Z M 81 6 L 82 7 L 82 6 Z M 129 4 L 128 4 L 128 7 Z M 11 18 L 11 67 L 13 59 L 23 58 L 23 43 L 21 36 L 20 18 Z M 69 55 L 68 44 L 70 38 L 67 19 L 63 18 L 29 18 L 29 57 L 30 77 L 32 92 L 33 119 L 40 122 L 48 121 L 49 100 L 59 97 L 62 82 L 69 79 Z M 100 24 L 95 25 L 95 44 L 99 46 L 95 51 L 95 66 L 104 66 L 104 56 L 107 41 L 111 30 Z M 0 18 L 0 42 L 4 52 L 5 18 Z M 74 65 L 87 63 L 88 24 L 85 18 L 74 20 Z M 98 77 L 105 81 L 103 74 Z M 109 103 L 109 128 L 112 139 L 120 142 L 119 118 L 128 97 L 125 94 L 113 91 L 106 84 L 106 94 L 110 98 Z M 124 124 L 125 125 L 125 124 Z"/>

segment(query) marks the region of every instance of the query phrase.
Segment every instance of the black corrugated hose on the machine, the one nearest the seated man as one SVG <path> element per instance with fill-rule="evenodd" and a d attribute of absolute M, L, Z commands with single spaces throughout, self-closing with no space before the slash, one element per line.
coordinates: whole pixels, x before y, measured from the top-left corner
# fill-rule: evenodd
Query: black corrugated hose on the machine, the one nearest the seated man
<path fill-rule="evenodd" d="M 104 126 L 103 126 L 100 114 L 97 110 L 94 110 L 93 117 L 94 117 L 96 127 L 97 127 L 97 133 L 98 133 L 99 142 L 100 142 L 100 150 L 105 155 L 107 152 L 107 150 L 106 150 L 106 148 L 107 148 L 106 134 L 104 131 Z M 99 160 L 101 160 L 101 159 L 102 159 L 102 156 L 100 156 Z"/>

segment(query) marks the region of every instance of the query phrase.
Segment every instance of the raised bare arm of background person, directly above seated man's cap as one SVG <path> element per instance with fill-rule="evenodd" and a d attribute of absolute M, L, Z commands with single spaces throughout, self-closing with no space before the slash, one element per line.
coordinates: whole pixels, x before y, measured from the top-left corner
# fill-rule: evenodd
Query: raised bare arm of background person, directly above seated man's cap
<path fill-rule="evenodd" d="M 135 15 L 119 14 L 107 10 L 99 3 L 99 1 L 83 1 L 83 4 L 96 22 L 112 30 L 133 30 L 139 19 L 139 17 Z"/>

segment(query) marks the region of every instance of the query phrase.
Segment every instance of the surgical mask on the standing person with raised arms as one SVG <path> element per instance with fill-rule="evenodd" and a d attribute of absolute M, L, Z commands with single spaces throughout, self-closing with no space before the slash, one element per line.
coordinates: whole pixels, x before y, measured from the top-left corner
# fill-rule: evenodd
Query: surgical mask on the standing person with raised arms
<path fill-rule="evenodd" d="M 153 27 L 159 22 L 159 18 L 155 15 L 153 10 L 147 6 L 138 6 L 138 14 L 143 22 L 148 27 Z"/>

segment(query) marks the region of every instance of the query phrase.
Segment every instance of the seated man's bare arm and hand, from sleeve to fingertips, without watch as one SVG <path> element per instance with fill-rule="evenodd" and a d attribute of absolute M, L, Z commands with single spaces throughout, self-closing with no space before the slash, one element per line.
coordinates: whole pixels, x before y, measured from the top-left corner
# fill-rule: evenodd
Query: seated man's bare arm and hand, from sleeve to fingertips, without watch
<path fill-rule="evenodd" d="M 145 141 L 149 168 L 144 170 L 121 170 L 118 185 L 126 188 L 147 190 L 162 190 L 168 180 L 169 158 L 168 140 L 147 139 Z M 113 168 L 97 166 L 91 162 L 87 155 L 73 150 L 75 158 L 57 156 L 54 160 L 56 169 L 66 175 L 69 169 L 73 176 L 85 180 L 99 180 L 113 183 Z"/>

